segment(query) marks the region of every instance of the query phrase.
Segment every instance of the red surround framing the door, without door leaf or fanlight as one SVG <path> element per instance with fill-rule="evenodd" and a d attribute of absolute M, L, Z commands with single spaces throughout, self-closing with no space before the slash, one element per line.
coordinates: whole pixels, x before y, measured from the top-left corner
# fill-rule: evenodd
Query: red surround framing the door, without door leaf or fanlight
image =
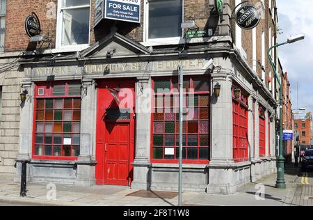
<path fill-rule="evenodd" d="M 97 165 L 95 168 L 95 178 L 97 184 L 116 184 L 116 185 L 125 185 L 120 181 L 106 181 L 105 179 L 105 143 L 106 143 L 106 122 L 110 123 L 127 123 L 129 124 L 129 176 L 127 184 L 130 186 L 131 181 L 133 180 L 133 169 L 131 165 L 134 162 L 134 152 L 135 152 L 135 79 L 110 79 L 98 81 L 98 90 L 97 90 L 97 130 L 96 130 L 96 159 Z M 104 121 L 104 113 L 109 107 L 109 103 L 113 101 L 112 95 L 109 93 L 108 88 L 117 88 L 119 86 L 122 88 L 129 88 L 132 91 L 132 107 L 130 113 L 130 120 L 115 120 L 115 121 Z"/>

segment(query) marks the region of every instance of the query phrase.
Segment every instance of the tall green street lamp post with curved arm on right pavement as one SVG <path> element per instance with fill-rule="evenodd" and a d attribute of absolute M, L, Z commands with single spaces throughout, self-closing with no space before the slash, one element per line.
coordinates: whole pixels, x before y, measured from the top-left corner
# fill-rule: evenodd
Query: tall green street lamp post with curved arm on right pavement
<path fill-rule="evenodd" d="M 276 181 L 276 188 L 278 189 L 286 189 L 286 182 L 284 181 L 284 157 L 282 155 L 282 78 L 278 77 L 278 73 L 276 71 L 275 65 L 273 63 L 272 57 L 271 57 L 271 50 L 276 47 L 280 47 L 282 45 L 286 45 L 287 42 L 284 42 L 282 44 L 274 45 L 270 49 L 268 49 L 268 59 L 271 63 L 271 66 L 273 68 L 273 71 L 275 73 L 275 78 L 278 81 L 278 84 L 280 86 L 280 142 L 279 142 L 279 155 L 278 155 L 278 177 Z"/>

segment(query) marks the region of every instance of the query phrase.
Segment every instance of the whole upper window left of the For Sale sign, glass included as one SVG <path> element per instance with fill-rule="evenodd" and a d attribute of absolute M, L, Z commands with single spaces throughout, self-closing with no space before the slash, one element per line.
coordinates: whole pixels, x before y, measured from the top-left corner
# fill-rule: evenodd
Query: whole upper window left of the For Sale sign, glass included
<path fill-rule="evenodd" d="M 57 46 L 88 45 L 90 0 L 58 0 Z"/>

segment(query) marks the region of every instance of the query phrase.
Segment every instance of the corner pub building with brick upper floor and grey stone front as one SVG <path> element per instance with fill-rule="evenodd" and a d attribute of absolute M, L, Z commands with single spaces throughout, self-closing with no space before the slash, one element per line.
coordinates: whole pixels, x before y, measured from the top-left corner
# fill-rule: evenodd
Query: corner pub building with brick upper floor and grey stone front
<path fill-rule="evenodd" d="M 184 189 L 234 194 L 275 172 L 275 1 L 251 1 L 262 19 L 250 31 L 232 19 L 238 0 L 220 14 L 213 0 L 141 0 L 113 19 L 102 19 L 103 1 L 1 3 L 1 177 L 19 180 L 17 159 L 31 182 L 176 190 L 179 64 Z M 45 38 L 26 35 L 20 17 L 31 13 Z M 198 33 L 181 29 L 190 20 Z"/>

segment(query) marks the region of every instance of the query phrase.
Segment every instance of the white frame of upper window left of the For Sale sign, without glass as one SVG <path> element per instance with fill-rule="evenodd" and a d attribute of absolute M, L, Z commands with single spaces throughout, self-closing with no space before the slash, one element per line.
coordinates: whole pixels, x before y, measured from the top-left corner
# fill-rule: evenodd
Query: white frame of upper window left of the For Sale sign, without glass
<path fill-rule="evenodd" d="M 63 0 L 58 0 L 58 11 L 56 17 L 56 49 L 60 52 L 67 51 L 81 51 L 86 49 L 90 45 L 90 20 L 91 20 L 91 1 L 89 1 L 89 5 L 85 6 L 72 6 L 72 7 L 62 7 Z M 66 45 L 62 46 L 62 32 L 63 32 L 63 10 L 66 9 L 79 9 L 79 8 L 89 8 L 89 35 L 88 35 L 88 43 L 83 45 Z"/>

